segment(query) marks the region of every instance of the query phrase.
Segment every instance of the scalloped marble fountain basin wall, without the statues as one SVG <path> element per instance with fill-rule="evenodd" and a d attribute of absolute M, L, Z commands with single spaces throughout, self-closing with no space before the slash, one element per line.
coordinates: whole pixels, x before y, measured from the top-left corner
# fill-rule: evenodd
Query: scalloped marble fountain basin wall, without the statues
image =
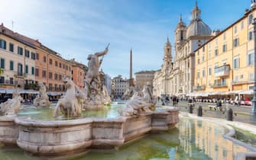
<path fill-rule="evenodd" d="M 87 149 L 113 149 L 144 134 L 170 130 L 178 110 L 156 110 L 139 117 L 86 117 L 76 120 L 32 120 L 0 117 L 0 142 L 18 145 L 41 157 L 76 155 Z"/>

